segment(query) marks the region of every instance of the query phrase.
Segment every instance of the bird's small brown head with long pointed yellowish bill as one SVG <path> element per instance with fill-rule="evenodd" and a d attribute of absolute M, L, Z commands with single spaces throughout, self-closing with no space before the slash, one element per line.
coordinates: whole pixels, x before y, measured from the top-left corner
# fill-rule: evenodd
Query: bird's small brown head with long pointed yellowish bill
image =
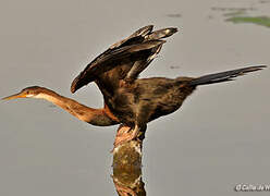
<path fill-rule="evenodd" d="M 2 100 L 11 100 L 11 99 L 17 99 L 17 98 L 39 98 L 38 95 L 40 95 L 45 90 L 46 88 L 44 87 L 30 86 L 30 87 L 22 89 L 19 94 L 2 98 Z"/>

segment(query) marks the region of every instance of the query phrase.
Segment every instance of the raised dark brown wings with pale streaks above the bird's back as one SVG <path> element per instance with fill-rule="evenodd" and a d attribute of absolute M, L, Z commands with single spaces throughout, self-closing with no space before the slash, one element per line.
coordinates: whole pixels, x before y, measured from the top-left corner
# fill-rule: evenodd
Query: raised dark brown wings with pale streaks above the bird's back
<path fill-rule="evenodd" d="M 96 81 L 99 86 L 116 88 L 120 79 L 133 81 L 159 53 L 164 40 L 176 28 L 152 32 L 152 25 L 139 28 L 130 37 L 115 42 L 91 61 L 72 82 L 71 91 Z"/>

